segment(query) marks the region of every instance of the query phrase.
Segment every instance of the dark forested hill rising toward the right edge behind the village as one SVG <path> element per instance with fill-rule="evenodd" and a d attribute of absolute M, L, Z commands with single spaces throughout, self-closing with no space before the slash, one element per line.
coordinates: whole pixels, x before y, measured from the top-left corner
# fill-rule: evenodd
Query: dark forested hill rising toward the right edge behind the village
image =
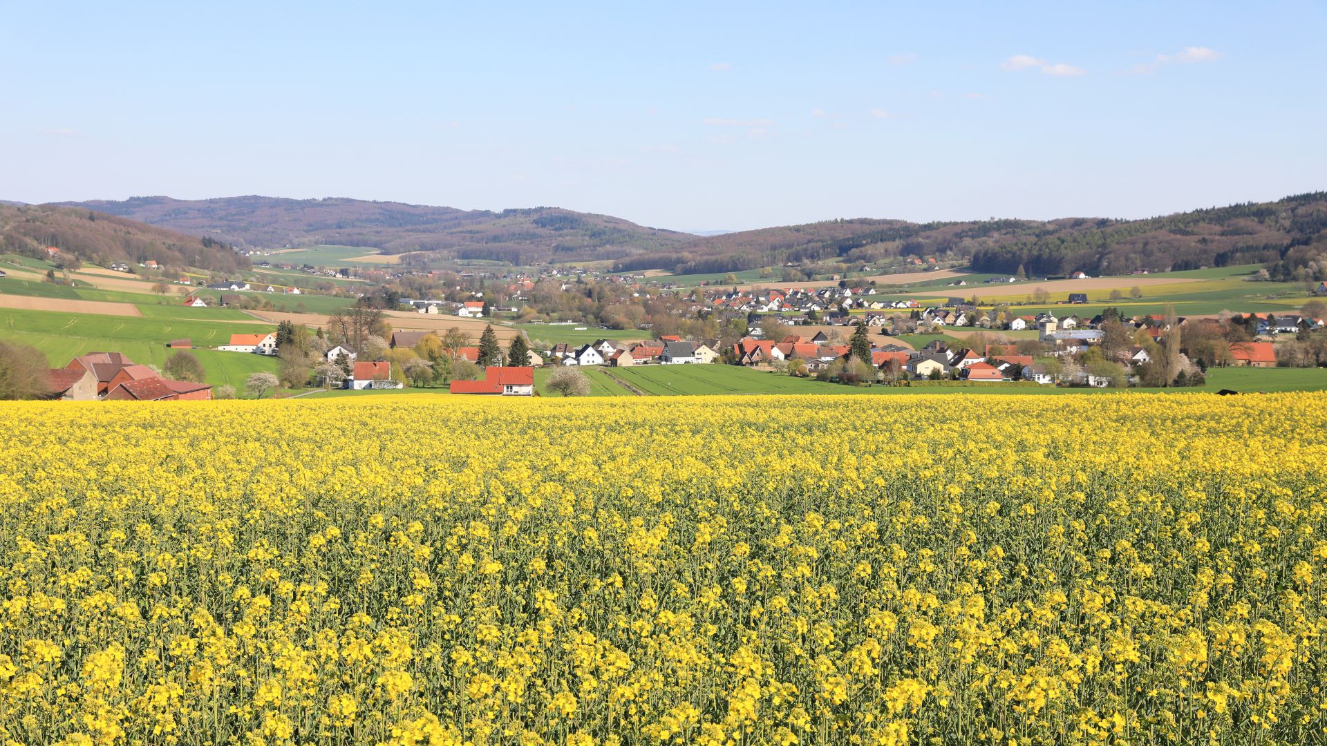
<path fill-rule="evenodd" d="M 1125 273 L 1214 264 L 1269 263 L 1327 272 L 1327 192 L 1277 202 L 1194 210 L 1144 220 L 827 220 L 697 238 L 674 251 L 633 256 L 618 269 L 733 272 L 788 261 L 845 258 L 889 263 L 900 256 L 971 260 L 982 272 Z"/>

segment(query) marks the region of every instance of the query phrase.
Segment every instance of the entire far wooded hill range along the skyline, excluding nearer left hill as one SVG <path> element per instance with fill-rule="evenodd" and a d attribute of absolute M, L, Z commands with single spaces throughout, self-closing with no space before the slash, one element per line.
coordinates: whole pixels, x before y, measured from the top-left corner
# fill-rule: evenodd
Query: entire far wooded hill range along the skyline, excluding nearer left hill
<path fill-rule="evenodd" d="M 1289 279 L 1327 273 L 1327 192 L 1143 220 L 1062 218 L 910 223 L 841 219 L 698 236 L 556 207 L 456 210 L 358 199 L 139 196 L 82 202 L 223 243 L 341 244 L 386 254 L 512 264 L 613 260 L 614 271 L 739 272 L 794 263 L 890 265 L 906 258 L 970 261 L 979 272 L 1052 276 L 1265 263 Z M 1303 272 L 1300 272 L 1303 273 Z"/>

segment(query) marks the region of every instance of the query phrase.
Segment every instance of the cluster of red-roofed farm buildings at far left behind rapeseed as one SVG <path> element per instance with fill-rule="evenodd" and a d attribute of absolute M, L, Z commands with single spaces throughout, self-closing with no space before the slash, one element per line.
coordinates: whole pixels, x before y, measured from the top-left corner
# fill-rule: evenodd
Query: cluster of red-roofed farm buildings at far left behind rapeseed
<path fill-rule="evenodd" d="M 46 370 L 49 398 L 62 401 L 210 400 L 212 386 L 173 381 L 118 352 L 90 352 Z"/>

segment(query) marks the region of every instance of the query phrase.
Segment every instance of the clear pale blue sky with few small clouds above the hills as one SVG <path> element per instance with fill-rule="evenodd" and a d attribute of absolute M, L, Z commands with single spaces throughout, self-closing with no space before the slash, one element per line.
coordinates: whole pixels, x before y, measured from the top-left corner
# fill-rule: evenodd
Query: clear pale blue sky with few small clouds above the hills
<path fill-rule="evenodd" d="M 0 198 L 740 230 L 1327 188 L 1323 3 L 378 5 L 0 1 Z"/>

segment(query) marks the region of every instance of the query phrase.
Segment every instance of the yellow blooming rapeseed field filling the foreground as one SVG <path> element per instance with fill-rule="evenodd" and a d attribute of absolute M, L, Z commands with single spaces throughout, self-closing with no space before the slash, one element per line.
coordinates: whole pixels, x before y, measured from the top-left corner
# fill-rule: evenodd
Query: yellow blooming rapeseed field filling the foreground
<path fill-rule="evenodd" d="M 8 743 L 1304 743 L 1327 394 L 0 405 Z"/>

